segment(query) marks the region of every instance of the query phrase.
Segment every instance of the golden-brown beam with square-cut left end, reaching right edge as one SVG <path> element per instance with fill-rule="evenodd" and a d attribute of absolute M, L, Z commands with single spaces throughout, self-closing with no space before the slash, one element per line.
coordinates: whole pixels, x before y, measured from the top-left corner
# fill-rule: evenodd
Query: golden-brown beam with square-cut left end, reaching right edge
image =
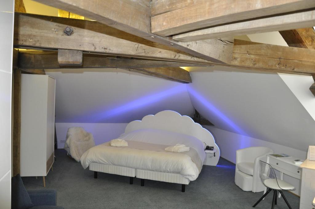
<path fill-rule="evenodd" d="M 315 50 L 234 40 L 234 66 L 278 72 L 315 73 Z"/>

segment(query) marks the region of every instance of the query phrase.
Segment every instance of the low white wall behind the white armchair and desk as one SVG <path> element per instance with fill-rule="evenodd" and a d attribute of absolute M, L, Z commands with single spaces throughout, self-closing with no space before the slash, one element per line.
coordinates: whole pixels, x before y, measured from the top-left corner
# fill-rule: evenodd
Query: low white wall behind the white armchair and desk
<path fill-rule="evenodd" d="M 296 157 L 297 159 L 305 159 L 306 152 L 301 150 L 296 150 L 287 146 L 275 144 L 272 142 L 266 142 L 264 140 L 260 140 L 257 138 L 251 138 L 247 136 L 243 136 L 240 134 L 224 131 L 215 127 L 205 126 L 215 138 L 215 143 L 220 148 L 220 155 L 221 157 L 225 158 L 228 161 L 235 163 L 235 151 L 238 149 L 243 149 L 246 147 L 255 147 L 255 146 L 263 146 L 269 147 L 277 154 L 288 154 L 291 156 Z M 296 160 L 296 159 L 294 159 Z M 296 190 L 293 191 L 295 194 L 300 195 L 301 189 L 301 182 L 300 180 L 287 176 L 284 174 L 284 181 L 289 182 L 290 184 L 294 185 Z"/>

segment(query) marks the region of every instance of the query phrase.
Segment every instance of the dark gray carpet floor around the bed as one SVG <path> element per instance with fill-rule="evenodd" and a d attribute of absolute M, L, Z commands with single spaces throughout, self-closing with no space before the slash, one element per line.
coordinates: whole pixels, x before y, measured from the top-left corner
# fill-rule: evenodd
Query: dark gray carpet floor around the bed
<path fill-rule="evenodd" d="M 57 190 L 57 203 L 65 209 L 98 208 L 252 208 L 263 195 L 262 192 L 244 192 L 234 184 L 235 165 L 225 159 L 219 164 L 203 166 L 196 181 L 181 192 L 180 184 L 171 184 L 135 178 L 129 184 L 129 177 L 84 170 L 80 163 L 66 156 L 65 150 L 55 150 L 57 161 L 54 171 L 46 177 L 46 188 Z M 23 177 L 26 189 L 43 189 L 42 178 Z M 299 208 L 300 199 L 284 191 L 292 208 Z M 255 208 L 271 208 L 272 194 L 267 195 Z M 288 208 L 282 198 L 276 209 Z"/>

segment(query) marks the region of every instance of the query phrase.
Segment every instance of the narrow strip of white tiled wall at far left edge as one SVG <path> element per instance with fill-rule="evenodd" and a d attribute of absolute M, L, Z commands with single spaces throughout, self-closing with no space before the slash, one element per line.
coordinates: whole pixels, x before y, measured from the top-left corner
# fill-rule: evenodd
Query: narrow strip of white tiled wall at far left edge
<path fill-rule="evenodd" d="M 0 9 L 0 207 L 11 207 L 11 86 L 14 1 Z"/>

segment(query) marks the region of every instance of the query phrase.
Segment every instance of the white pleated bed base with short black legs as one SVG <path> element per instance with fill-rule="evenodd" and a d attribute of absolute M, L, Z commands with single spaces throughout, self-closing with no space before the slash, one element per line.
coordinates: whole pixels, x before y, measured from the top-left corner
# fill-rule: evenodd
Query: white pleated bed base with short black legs
<path fill-rule="evenodd" d="M 190 182 L 187 178 L 178 173 L 146 171 L 141 169 L 105 165 L 100 163 L 90 163 L 89 170 L 94 171 L 94 178 L 97 178 L 97 172 L 128 176 L 130 177 L 129 184 L 133 184 L 134 177 L 137 177 L 141 179 L 141 186 L 144 186 L 145 179 L 181 184 L 182 192 L 185 192 L 185 186 L 188 185 Z"/>

